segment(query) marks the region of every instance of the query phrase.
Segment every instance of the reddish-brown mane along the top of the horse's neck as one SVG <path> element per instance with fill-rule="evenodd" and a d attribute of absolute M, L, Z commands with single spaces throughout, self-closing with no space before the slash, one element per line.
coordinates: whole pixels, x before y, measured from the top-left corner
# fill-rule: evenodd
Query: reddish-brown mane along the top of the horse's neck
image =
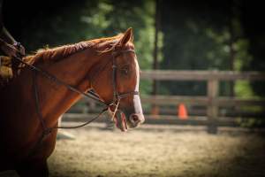
<path fill-rule="evenodd" d="M 119 34 L 113 37 L 104 37 L 104 38 L 93 39 L 93 40 L 84 41 L 84 42 L 78 42 L 74 44 L 67 44 L 67 45 L 50 48 L 50 49 L 44 48 L 41 50 L 37 50 L 37 52 L 34 55 L 27 56 L 24 59 L 26 62 L 31 63 L 31 64 L 37 61 L 40 61 L 40 60 L 57 61 L 61 58 L 66 58 L 68 56 L 71 56 L 72 54 L 79 52 L 80 50 L 86 50 L 87 48 L 93 48 L 102 42 L 116 42 L 116 43 L 113 43 L 110 49 L 106 49 L 100 52 L 110 51 L 114 49 L 113 46 L 117 44 L 117 39 L 119 39 L 122 35 L 123 34 Z"/>

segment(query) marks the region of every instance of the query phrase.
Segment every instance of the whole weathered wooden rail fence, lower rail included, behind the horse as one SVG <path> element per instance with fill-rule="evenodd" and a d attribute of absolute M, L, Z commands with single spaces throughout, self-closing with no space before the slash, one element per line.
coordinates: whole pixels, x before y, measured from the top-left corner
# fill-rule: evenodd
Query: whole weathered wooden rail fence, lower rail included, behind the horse
<path fill-rule="evenodd" d="M 143 104 L 157 105 L 178 105 L 180 103 L 186 105 L 202 105 L 207 107 L 207 115 L 204 118 L 198 117 L 179 120 L 172 116 L 159 116 L 159 119 L 154 119 L 154 116 L 146 116 L 148 123 L 157 123 L 167 121 L 170 124 L 190 124 L 190 125 L 207 125 L 209 133 L 216 133 L 217 127 L 223 124 L 223 120 L 234 122 L 234 119 L 220 119 L 218 114 L 219 107 L 222 106 L 243 106 L 257 105 L 264 108 L 264 99 L 243 99 L 237 97 L 221 97 L 219 93 L 220 81 L 265 81 L 265 73 L 259 72 L 231 72 L 231 71 L 169 71 L 169 70 L 152 70 L 142 71 L 141 80 L 151 81 L 206 81 L 207 96 L 141 96 Z M 84 101 L 84 100 L 83 100 Z M 66 116 L 67 117 L 67 116 Z M 71 119 L 71 116 L 68 115 Z M 153 119 L 152 119 L 153 118 Z M 201 122 L 201 123 L 199 123 Z"/>

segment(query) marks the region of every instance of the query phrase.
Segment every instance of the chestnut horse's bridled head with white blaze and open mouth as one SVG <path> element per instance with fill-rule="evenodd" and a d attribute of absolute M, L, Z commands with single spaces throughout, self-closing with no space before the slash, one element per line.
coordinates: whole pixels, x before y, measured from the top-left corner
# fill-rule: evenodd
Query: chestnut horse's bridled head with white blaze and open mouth
<path fill-rule="evenodd" d="M 108 48 L 109 46 L 109 48 Z M 138 127 L 144 122 L 139 95 L 140 67 L 133 45 L 133 30 L 112 43 L 102 46 L 102 58 L 107 58 L 91 81 L 92 88 L 109 104 L 116 126 L 122 131 Z M 103 60 L 103 59 L 102 59 Z"/>

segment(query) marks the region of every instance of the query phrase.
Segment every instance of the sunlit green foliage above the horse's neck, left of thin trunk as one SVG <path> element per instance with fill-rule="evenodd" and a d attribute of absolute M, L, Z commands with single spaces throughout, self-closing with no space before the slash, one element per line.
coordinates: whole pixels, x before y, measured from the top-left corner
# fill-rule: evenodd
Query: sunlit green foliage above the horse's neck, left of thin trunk
<path fill-rule="evenodd" d="M 27 50 L 113 36 L 133 27 L 134 44 L 141 69 L 151 69 L 154 41 L 155 2 L 86 0 L 65 5 L 45 16 L 36 16 L 24 31 Z M 42 20 L 42 23 L 40 23 Z M 148 93 L 150 81 L 143 81 L 141 92 Z"/>

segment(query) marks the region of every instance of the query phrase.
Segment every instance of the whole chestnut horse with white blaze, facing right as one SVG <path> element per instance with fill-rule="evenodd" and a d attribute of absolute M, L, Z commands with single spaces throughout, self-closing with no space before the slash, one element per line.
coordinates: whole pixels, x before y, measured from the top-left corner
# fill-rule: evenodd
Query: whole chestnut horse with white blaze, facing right
<path fill-rule="evenodd" d="M 117 119 L 117 115 L 114 119 L 121 130 L 144 121 L 137 94 L 140 68 L 132 28 L 110 38 L 38 51 L 24 60 L 81 92 L 94 89 L 106 104 L 118 104 L 123 119 Z M 14 169 L 20 176 L 48 176 L 47 158 L 55 149 L 57 129 L 51 129 L 36 146 L 43 126 L 56 127 L 59 116 L 80 97 L 64 85 L 23 67 L 0 89 L 0 171 Z"/>

